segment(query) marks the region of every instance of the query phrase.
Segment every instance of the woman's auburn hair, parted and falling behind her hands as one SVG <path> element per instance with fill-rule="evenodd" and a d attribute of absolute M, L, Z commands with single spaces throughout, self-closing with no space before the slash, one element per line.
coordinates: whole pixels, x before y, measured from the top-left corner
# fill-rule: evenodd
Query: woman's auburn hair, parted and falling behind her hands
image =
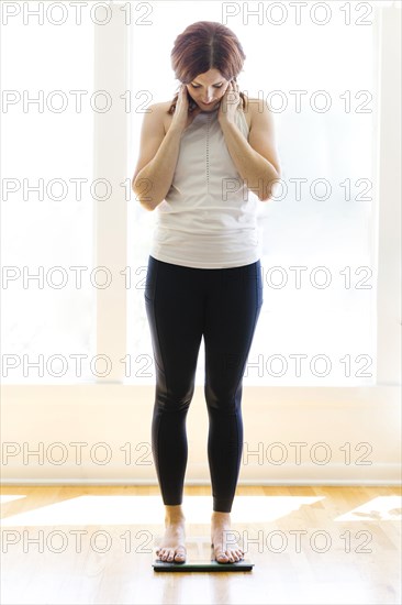
<path fill-rule="evenodd" d="M 198 21 L 176 37 L 170 58 L 180 88 L 181 84 L 190 84 L 209 69 L 217 69 L 226 80 L 236 81 L 246 55 L 237 36 L 226 25 L 215 21 Z M 188 91 L 187 95 L 191 112 L 197 103 Z M 168 113 L 175 112 L 179 92 L 176 92 Z M 239 97 L 244 110 L 247 99 L 243 92 L 239 92 Z"/>

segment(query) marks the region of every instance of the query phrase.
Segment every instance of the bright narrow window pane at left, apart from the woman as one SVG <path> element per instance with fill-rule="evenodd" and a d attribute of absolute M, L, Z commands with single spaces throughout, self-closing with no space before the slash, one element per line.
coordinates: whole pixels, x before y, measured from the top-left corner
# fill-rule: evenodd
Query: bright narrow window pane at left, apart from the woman
<path fill-rule="evenodd" d="M 92 381 L 93 24 L 21 12 L 2 50 L 2 380 Z"/>

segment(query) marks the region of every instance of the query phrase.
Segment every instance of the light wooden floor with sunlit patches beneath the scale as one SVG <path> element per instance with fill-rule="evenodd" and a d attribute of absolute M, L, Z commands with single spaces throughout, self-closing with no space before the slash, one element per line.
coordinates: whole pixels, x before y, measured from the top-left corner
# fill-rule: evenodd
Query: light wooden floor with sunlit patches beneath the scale
<path fill-rule="evenodd" d="M 401 490 L 238 486 L 233 529 L 255 566 L 156 573 L 157 486 L 2 487 L 1 603 L 401 603 Z M 185 490 L 188 560 L 210 556 L 211 487 Z"/>

